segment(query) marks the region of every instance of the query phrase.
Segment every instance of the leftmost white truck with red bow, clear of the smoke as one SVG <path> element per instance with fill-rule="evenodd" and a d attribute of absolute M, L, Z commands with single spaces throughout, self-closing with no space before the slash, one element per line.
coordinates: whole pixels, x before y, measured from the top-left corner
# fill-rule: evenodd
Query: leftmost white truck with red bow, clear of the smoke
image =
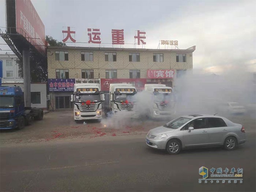
<path fill-rule="evenodd" d="M 76 83 L 74 94 L 71 95 L 71 102 L 74 102 L 74 120 L 101 120 L 102 101 L 105 101 L 105 95 L 100 93 L 98 83 Z"/>

